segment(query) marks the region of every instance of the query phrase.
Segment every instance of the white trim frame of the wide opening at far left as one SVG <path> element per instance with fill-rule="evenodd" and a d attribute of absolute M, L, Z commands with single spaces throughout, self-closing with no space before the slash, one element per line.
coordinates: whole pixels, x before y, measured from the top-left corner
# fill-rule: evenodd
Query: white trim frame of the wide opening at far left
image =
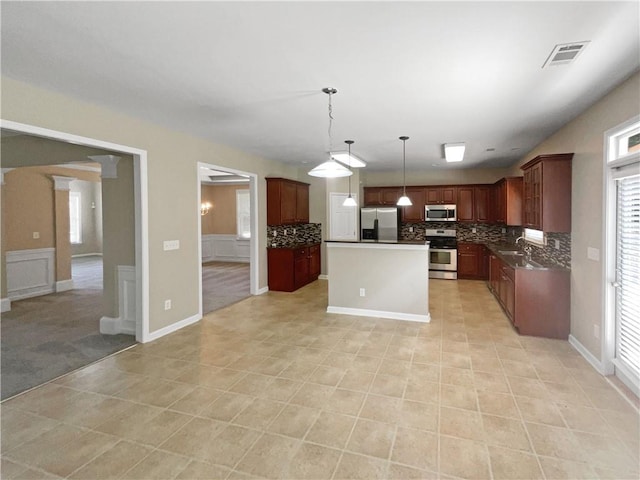
<path fill-rule="evenodd" d="M 50 130 L 25 123 L 0 119 L 0 128 L 45 137 L 65 143 L 111 150 L 133 157 L 134 224 L 135 224 L 135 274 L 136 274 L 136 341 L 145 343 L 149 334 L 149 205 L 147 188 L 147 151 L 83 137 L 67 132 Z M 120 312 L 122 313 L 122 312 Z"/>

